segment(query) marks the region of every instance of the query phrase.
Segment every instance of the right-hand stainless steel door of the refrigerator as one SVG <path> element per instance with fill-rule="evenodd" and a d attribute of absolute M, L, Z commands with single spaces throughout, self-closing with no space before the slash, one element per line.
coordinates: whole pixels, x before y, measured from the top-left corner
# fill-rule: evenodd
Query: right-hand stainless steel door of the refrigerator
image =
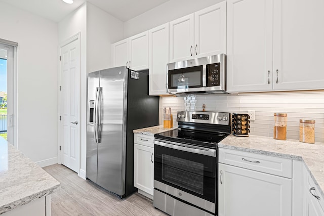
<path fill-rule="evenodd" d="M 97 184 L 119 196 L 125 194 L 127 76 L 126 67 L 100 71 L 101 142 Z"/>

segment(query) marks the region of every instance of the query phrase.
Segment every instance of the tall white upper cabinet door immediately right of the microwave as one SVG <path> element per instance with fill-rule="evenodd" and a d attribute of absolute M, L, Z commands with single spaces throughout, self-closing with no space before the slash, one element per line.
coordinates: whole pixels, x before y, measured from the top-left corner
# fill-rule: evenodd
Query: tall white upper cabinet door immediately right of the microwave
<path fill-rule="evenodd" d="M 227 1 L 227 92 L 272 90 L 273 1 Z"/>

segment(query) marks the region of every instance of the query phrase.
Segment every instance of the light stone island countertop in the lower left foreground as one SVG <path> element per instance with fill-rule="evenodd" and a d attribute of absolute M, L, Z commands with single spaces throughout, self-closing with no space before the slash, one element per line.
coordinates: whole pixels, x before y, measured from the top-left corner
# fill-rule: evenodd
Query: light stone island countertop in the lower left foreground
<path fill-rule="evenodd" d="M 0 214 L 59 188 L 58 181 L 0 137 Z"/>

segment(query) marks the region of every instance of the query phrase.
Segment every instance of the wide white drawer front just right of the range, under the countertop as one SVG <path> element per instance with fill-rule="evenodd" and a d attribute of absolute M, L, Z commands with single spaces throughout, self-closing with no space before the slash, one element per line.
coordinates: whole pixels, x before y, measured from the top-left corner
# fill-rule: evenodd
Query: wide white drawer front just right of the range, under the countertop
<path fill-rule="evenodd" d="M 218 161 L 276 176 L 292 178 L 292 160 L 267 155 L 219 148 Z"/>

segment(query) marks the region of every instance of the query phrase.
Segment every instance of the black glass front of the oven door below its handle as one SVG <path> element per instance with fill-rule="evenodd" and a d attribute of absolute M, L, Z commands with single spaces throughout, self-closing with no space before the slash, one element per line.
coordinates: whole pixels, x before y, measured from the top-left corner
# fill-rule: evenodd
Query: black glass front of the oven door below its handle
<path fill-rule="evenodd" d="M 154 145 L 154 180 L 215 202 L 216 157 Z"/>

